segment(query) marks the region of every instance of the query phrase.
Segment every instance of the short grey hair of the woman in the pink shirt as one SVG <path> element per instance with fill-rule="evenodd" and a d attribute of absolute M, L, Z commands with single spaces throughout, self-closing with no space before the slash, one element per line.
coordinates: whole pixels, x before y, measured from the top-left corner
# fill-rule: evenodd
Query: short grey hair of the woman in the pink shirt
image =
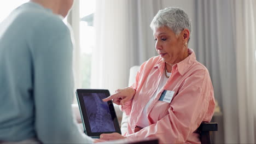
<path fill-rule="evenodd" d="M 181 33 L 183 29 L 187 28 L 191 35 L 191 21 L 188 14 L 184 10 L 176 7 L 169 7 L 161 9 L 158 14 L 155 15 L 154 19 L 150 23 L 150 27 L 155 31 L 159 27 L 167 26 L 176 35 Z"/>

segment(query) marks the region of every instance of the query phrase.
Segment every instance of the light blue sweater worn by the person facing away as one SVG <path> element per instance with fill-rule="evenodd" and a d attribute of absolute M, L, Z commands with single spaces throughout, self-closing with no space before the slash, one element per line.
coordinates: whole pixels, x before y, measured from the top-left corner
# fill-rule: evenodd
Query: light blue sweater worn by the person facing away
<path fill-rule="evenodd" d="M 0 140 L 92 142 L 72 116 L 72 49 L 65 23 L 36 3 L 0 24 Z"/>

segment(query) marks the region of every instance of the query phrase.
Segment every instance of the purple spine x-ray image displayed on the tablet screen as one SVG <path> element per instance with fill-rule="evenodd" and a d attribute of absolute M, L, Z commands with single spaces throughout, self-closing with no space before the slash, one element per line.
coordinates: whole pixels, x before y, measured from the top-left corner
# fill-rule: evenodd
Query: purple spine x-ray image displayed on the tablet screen
<path fill-rule="evenodd" d="M 83 93 L 84 104 L 92 133 L 115 131 L 104 93 Z"/>

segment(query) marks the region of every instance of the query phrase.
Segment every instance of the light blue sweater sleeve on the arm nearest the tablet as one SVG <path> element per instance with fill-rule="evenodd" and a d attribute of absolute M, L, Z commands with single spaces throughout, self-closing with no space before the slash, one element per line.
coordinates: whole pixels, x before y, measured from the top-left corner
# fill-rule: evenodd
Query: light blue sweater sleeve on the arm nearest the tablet
<path fill-rule="evenodd" d="M 61 22 L 41 22 L 31 38 L 37 138 L 42 143 L 92 143 L 73 118 L 73 45 Z"/>

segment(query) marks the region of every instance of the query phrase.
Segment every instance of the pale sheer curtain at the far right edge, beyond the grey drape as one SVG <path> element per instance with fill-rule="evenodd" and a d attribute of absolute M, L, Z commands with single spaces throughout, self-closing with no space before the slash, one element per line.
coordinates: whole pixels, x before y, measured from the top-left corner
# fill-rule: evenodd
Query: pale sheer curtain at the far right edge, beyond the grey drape
<path fill-rule="evenodd" d="M 239 143 L 256 143 L 256 1 L 236 0 Z"/>

